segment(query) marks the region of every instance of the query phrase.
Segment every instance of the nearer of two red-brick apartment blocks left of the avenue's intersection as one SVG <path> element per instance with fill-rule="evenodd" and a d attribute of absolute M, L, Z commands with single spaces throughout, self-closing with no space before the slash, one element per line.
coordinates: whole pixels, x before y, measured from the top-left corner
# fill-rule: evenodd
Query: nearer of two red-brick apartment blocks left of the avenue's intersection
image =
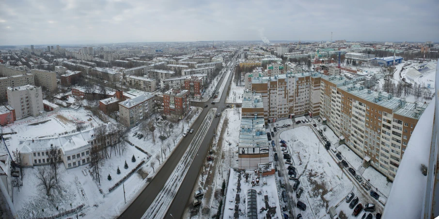
<path fill-rule="evenodd" d="M 163 94 L 164 114 L 174 119 L 182 119 L 189 112 L 189 91 L 178 88 Z"/>

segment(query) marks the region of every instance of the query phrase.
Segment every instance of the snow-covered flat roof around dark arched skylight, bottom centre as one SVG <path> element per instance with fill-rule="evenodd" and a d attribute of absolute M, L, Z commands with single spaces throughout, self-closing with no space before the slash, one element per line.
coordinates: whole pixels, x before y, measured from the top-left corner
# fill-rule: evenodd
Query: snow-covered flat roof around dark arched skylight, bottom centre
<path fill-rule="evenodd" d="M 246 182 L 245 174 L 249 174 L 248 181 Z M 238 175 L 241 175 L 240 185 L 241 191 L 237 192 L 238 185 Z M 276 214 L 273 218 L 282 218 L 281 207 L 279 203 L 278 192 L 276 188 L 276 178 L 274 175 L 265 176 L 260 179 L 259 185 L 251 185 L 251 181 L 255 179 L 257 176 L 253 171 L 245 171 L 245 172 L 236 172 L 235 170 L 230 170 L 229 184 L 227 186 L 227 196 L 224 206 L 224 217 L 223 219 L 233 219 L 235 213 L 235 204 L 237 201 L 235 200 L 236 194 L 239 194 L 240 201 L 238 203 L 239 206 L 239 219 L 246 219 L 247 217 L 247 191 L 249 189 L 254 189 L 257 192 L 256 203 L 257 203 L 257 212 L 258 218 L 262 219 L 266 217 L 267 209 L 262 211 L 260 210 L 262 207 L 265 208 L 266 204 L 264 201 L 264 196 L 268 196 L 268 205 L 270 207 L 276 207 Z M 263 179 L 265 178 L 265 179 Z M 267 185 L 263 184 L 263 180 L 266 180 Z"/>

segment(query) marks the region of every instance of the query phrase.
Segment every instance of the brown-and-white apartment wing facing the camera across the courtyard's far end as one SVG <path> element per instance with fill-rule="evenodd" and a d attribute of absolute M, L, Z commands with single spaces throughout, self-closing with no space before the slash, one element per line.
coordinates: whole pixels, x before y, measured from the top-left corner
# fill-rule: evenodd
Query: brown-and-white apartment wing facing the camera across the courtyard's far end
<path fill-rule="evenodd" d="M 288 73 L 251 78 L 251 91 L 261 94 L 267 123 L 301 115 L 319 115 L 319 73 Z"/>

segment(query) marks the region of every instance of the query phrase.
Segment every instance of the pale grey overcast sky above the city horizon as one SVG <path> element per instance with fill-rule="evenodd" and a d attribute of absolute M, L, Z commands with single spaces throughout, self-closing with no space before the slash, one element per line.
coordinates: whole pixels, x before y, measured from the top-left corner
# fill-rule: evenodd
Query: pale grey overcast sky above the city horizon
<path fill-rule="evenodd" d="M 0 45 L 439 42 L 439 0 L 0 0 Z"/>

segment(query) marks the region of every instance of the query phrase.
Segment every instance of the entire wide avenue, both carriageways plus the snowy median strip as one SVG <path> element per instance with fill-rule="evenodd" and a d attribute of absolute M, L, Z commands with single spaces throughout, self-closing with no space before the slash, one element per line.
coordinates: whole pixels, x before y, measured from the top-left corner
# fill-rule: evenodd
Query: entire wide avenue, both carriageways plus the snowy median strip
<path fill-rule="evenodd" d="M 218 91 L 221 91 L 220 87 L 225 80 L 225 84 L 223 85 L 224 87 L 222 89 L 222 94 L 220 95 L 219 100 L 210 98 L 206 102 L 190 103 L 191 106 L 197 106 L 202 108 L 204 108 L 204 105 L 207 105 L 207 107 L 200 112 L 200 116 L 191 127 L 194 129 L 194 133 L 188 134 L 185 138 L 183 138 L 180 144 L 172 152 L 168 160 L 163 164 L 162 168 L 157 172 L 156 176 L 139 194 L 139 196 L 127 207 L 127 209 L 120 215 L 119 218 L 160 218 L 163 217 L 163 213 L 165 213 L 166 209 L 168 210 L 167 213 L 164 215 L 165 218 L 176 219 L 182 217 L 182 214 L 186 207 L 185 205 L 186 203 L 188 203 L 188 199 L 192 197 L 192 188 L 196 183 L 196 180 L 198 178 L 197 176 L 200 172 L 204 157 L 207 154 L 209 142 L 213 138 L 214 129 L 219 124 L 219 117 L 213 117 L 210 125 L 206 125 L 206 121 L 208 120 L 206 119 L 206 116 L 208 115 L 208 112 L 211 111 L 210 109 L 216 109 L 216 114 L 221 112 L 221 110 L 226 107 L 225 99 L 227 98 L 227 88 L 230 85 L 233 75 L 236 56 L 231 59 L 232 61 L 230 65 L 224 67 L 225 72 L 218 82 L 217 89 Z M 227 74 L 227 68 L 230 68 L 230 71 L 232 71 L 231 74 Z M 229 77 L 225 78 L 226 76 Z M 215 101 L 216 103 L 211 104 L 212 101 Z M 193 160 L 186 163 L 186 165 L 189 165 L 187 170 L 184 170 L 186 174 L 179 174 L 179 177 L 184 177 L 184 179 L 183 181 L 179 180 L 180 182 L 175 182 L 178 184 L 181 183 L 180 187 L 178 187 L 178 185 L 173 185 L 172 181 L 168 181 L 172 180 L 169 178 L 176 174 L 175 172 L 177 172 L 177 170 L 175 169 L 177 168 L 177 164 L 180 163 L 181 165 L 181 158 L 184 155 L 188 156 L 188 154 L 185 152 L 187 151 L 189 145 L 191 145 L 189 150 L 196 150 L 196 153 L 190 153 L 190 155 L 194 154 L 195 157 L 189 157 L 189 159 Z M 168 192 L 166 193 L 166 191 L 163 191 L 164 189 Z M 175 189 L 178 190 L 175 191 Z M 166 195 L 167 197 L 157 198 L 157 196 L 164 195 Z M 174 196 L 170 206 L 169 202 L 171 202 L 171 200 L 167 202 L 163 201 L 164 198 L 169 199 L 169 196 Z M 158 206 L 151 206 L 153 203 L 157 204 Z M 146 212 L 154 213 L 153 215 L 145 215 Z"/>

